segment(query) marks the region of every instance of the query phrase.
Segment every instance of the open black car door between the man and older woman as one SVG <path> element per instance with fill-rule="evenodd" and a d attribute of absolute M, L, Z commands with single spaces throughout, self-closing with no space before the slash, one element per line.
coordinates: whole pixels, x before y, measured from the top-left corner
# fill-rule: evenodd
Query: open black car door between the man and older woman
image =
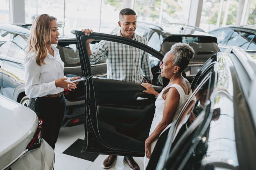
<path fill-rule="evenodd" d="M 144 143 L 154 117 L 156 98 L 144 93 L 145 89 L 140 83 L 92 77 L 86 40 L 95 38 L 97 42 L 115 42 L 122 47 L 138 48 L 147 52 L 151 60 L 151 70 L 160 66 L 164 55 L 141 42 L 116 35 L 94 32 L 87 36 L 84 32 L 76 31 L 76 36 L 82 76 L 88 77 L 84 81 L 86 109 L 82 152 L 143 157 Z M 161 81 L 162 85 L 156 85 L 158 79 L 159 76 L 154 75 L 153 85 L 160 92 L 166 80 Z"/>

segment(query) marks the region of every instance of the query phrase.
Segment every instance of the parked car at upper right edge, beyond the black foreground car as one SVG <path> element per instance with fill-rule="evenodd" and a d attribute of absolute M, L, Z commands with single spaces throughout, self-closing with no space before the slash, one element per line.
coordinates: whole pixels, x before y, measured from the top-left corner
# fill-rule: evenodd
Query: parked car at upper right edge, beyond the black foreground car
<path fill-rule="evenodd" d="M 256 57 L 256 26 L 227 25 L 209 33 L 217 37 L 221 51 L 225 51 L 230 46 L 238 46 Z"/>

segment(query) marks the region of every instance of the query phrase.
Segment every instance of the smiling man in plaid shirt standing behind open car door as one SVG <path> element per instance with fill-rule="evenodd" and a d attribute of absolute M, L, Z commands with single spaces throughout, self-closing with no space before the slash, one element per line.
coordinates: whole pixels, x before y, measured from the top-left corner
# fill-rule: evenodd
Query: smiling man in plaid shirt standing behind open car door
<path fill-rule="evenodd" d="M 133 10 L 129 8 L 121 10 L 119 19 L 118 25 L 121 29 L 116 35 L 146 44 L 146 39 L 134 32 L 136 30 L 136 13 Z M 90 35 L 92 30 L 87 29 L 84 32 Z M 89 43 L 93 40 L 87 40 L 90 62 L 95 64 L 107 57 L 107 78 L 141 83 L 143 77 L 146 77 L 146 80 L 152 84 L 153 75 L 148 53 L 130 45 L 105 40 L 101 40 L 97 47 L 91 51 Z"/>

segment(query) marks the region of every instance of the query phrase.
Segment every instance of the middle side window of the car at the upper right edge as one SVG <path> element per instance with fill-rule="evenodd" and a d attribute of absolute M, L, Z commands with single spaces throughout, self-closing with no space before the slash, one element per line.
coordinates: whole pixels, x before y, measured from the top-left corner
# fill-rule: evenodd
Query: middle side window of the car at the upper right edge
<path fill-rule="evenodd" d="M 253 38 L 254 34 L 250 32 L 243 32 L 235 30 L 231 35 L 230 39 L 228 40 L 228 46 L 238 46 L 242 49 L 247 49 L 251 39 Z"/>

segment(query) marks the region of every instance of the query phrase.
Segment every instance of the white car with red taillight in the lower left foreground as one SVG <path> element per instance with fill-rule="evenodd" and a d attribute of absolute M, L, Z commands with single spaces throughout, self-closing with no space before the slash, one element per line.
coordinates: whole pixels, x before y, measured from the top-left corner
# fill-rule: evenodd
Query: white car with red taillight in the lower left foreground
<path fill-rule="evenodd" d="M 54 150 L 36 113 L 0 95 L 0 170 L 52 170 Z"/>

